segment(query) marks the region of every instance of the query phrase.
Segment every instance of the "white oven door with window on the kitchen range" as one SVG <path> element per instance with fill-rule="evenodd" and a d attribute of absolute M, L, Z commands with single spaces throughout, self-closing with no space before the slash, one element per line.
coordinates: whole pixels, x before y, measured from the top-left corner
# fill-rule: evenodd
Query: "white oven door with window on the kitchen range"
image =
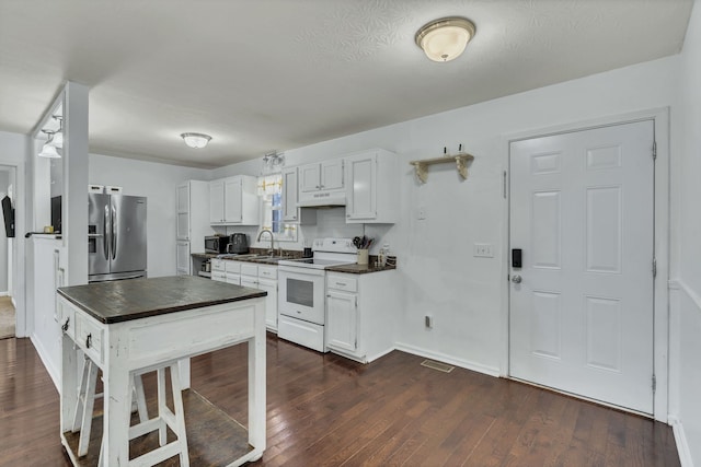
<path fill-rule="evenodd" d="M 277 280 L 279 314 L 323 326 L 324 270 L 280 266 Z"/>

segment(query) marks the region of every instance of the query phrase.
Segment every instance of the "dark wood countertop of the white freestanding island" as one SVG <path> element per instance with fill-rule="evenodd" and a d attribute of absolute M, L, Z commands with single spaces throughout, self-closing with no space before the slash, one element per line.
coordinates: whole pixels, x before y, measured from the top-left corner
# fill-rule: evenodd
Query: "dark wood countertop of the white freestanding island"
<path fill-rule="evenodd" d="M 61 287 L 58 293 L 104 324 L 267 295 L 258 289 L 195 276 L 95 282 Z"/>

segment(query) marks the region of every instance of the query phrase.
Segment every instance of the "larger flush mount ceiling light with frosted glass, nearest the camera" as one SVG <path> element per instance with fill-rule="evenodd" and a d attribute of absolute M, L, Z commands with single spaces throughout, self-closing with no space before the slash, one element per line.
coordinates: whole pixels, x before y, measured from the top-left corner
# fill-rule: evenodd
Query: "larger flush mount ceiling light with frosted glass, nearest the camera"
<path fill-rule="evenodd" d="M 426 57 L 434 61 L 450 61 L 460 57 L 474 36 L 474 23 L 464 17 L 443 17 L 425 24 L 414 39 Z"/>

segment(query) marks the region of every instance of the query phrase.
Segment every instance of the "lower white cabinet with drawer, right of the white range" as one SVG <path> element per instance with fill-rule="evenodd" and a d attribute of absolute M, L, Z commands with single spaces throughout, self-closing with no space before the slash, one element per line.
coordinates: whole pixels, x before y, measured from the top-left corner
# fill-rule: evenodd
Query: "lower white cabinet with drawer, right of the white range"
<path fill-rule="evenodd" d="M 394 348 L 399 301 L 397 271 L 327 272 L 326 347 L 371 362 Z"/>

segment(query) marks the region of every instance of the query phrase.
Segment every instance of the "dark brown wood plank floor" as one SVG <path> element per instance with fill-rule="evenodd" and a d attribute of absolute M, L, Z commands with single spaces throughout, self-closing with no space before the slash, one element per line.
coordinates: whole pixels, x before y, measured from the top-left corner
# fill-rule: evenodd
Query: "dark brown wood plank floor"
<path fill-rule="evenodd" d="M 369 365 L 267 339 L 265 466 L 678 466 L 671 429 L 528 385 Z M 246 420 L 246 348 L 193 360 L 193 387 Z M 0 466 L 69 465 L 58 395 L 28 339 L 0 341 Z"/>

